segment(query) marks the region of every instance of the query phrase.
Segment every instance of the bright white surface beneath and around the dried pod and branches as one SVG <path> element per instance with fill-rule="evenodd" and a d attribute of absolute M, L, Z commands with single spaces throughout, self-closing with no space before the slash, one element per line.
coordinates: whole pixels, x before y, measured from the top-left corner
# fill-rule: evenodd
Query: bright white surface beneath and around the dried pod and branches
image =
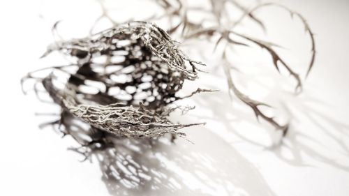
<path fill-rule="evenodd" d="M 57 16 L 68 20 L 75 15 L 81 27 L 88 27 L 91 22 L 88 16 L 94 17 L 90 14 L 97 6 L 93 1 L 86 4 L 74 1 L 71 7 L 67 6 L 68 2 L 50 1 L 46 6 L 40 1 L 0 3 L 0 195 L 123 193 L 121 188 L 108 192 L 96 162 L 80 163 L 81 157 L 77 153 L 66 150 L 76 146 L 73 140 L 61 139 L 50 128 L 39 130 L 38 124 L 43 118 L 34 116 L 34 112 L 51 111 L 38 103 L 33 94 L 23 96 L 20 91 L 20 78 L 47 63 L 39 61 L 38 56 L 47 43 L 52 42 L 51 21 L 57 20 Z M 349 2 L 283 2 L 303 13 L 316 33 L 318 55 L 304 93 L 292 96 L 288 77 L 279 76 L 270 65 L 269 56 L 258 48 L 237 49 L 234 61 L 246 73 L 235 73 L 236 80 L 246 92 L 272 105 L 288 108 L 289 112 L 284 109 L 281 112 L 283 116 L 292 116 L 290 131 L 283 144 L 276 148 L 267 147 L 271 144 L 269 127 L 260 126 L 252 112 L 239 101 L 230 103 L 222 71 L 211 70 L 213 75 L 202 75 L 200 86 L 221 89 L 221 92 L 195 96 L 186 102 L 196 105 L 195 110 L 186 116 L 173 116 L 183 122 L 207 122 L 206 126 L 186 129 L 188 138 L 195 144 L 177 140 L 175 145 L 161 144 L 161 149 L 144 151 L 141 162 L 165 174 L 165 180 L 161 181 L 159 190 L 140 188 L 127 190 L 127 193 L 348 195 Z M 45 15 L 56 17 L 41 20 L 38 13 L 43 13 L 44 8 L 53 12 Z M 74 12 L 76 9 L 78 13 Z M 281 52 L 304 72 L 309 61 L 309 40 L 299 20 L 292 21 L 277 9 L 267 10 L 265 14 L 261 11 L 260 15 L 267 21 L 268 37 L 287 47 L 288 50 Z M 283 24 L 284 20 L 288 21 L 287 25 Z M 77 29 L 80 29 L 79 25 L 76 25 Z M 255 32 L 253 28 L 251 32 Z M 218 64 L 212 58 L 202 61 L 211 63 L 211 67 Z M 283 84 L 290 91 L 284 91 Z M 275 137 L 275 133 L 269 133 Z M 170 184 L 177 188 L 171 188 Z"/>

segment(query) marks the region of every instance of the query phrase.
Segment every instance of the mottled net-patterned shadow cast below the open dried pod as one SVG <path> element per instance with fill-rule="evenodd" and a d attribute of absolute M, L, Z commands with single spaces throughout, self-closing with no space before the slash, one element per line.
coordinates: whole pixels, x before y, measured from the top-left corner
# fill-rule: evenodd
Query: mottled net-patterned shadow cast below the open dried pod
<path fill-rule="evenodd" d="M 63 133 L 82 144 L 70 150 L 98 163 L 110 195 L 274 195 L 258 169 L 202 126 L 188 128 L 191 144 L 115 137 L 64 116 Z"/>

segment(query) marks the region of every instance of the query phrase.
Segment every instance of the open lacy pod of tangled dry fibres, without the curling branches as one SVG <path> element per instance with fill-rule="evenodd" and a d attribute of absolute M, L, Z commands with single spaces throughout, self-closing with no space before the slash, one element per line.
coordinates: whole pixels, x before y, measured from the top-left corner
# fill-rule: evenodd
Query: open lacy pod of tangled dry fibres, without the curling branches
<path fill-rule="evenodd" d="M 168 33 L 148 22 L 128 22 L 88 38 L 61 41 L 48 47 L 44 56 L 59 51 L 73 57 L 77 67 L 68 73 L 64 88 L 54 85 L 54 74 L 36 78 L 66 116 L 88 123 L 96 132 L 126 137 L 184 136 L 179 129 L 197 125 L 172 123 L 168 107 L 185 80 L 195 80 L 198 61 L 189 59 Z M 67 73 L 66 66 L 56 66 Z M 27 77 L 34 78 L 33 73 Z M 89 88 L 89 90 L 87 90 Z M 93 90 L 91 90 L 93 89 Z M 198 89 L 194 93 L 205 91 Z M 192 93 L 193 94 L 193 93 Z M 188 108 L 182 107 L 182 110 Z"/>

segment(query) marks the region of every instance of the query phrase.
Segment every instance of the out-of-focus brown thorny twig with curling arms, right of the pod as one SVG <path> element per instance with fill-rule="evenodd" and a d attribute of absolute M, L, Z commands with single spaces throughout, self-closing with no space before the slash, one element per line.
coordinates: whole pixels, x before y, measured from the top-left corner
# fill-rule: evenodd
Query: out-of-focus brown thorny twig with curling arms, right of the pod
<path fill-rule="evenodd" d="M 309 68 L 306 72 L 306 76 L 307 76 L 307 75 L 309 75 L 311 68 L 313 67 L 313 63 L 314 63 L 314 59 L 315 59 L 315 39 L 313 36 L 313 31 L 311 31 L 309 24 L 306 22 L 306 20 L 304 19 L 304 17 L 302 15 L 300 15 L 299 13 L 297 13 L 293 10 L 290 10 L 289 8 L 287 8 L 285 6 L 281 6 L 277 3 L 260 3 L 257 6 L 254 6 L 253 8 L 248 9 L 245 6 L 242 6 L 242 4 L 238 3 L 235 0 L 220 0 L 220 1 L 210 1 L 210 2 L 211 2 L 212 10 L 211 10 L 211 13 L 209 13 L 209 14 L 211 14 L 211 16 L 213 16 L 215 18 L 216 24 L 213 24 L 210 27 L 205 27 L 205 28 L 202 27 L 203 22 L 201 22 L 200 24 L 191 24 L 192 26 L 196 25 L 196 27 L 198 27 L 198 28 L 186 31 L 186 33 L 184 33 L 184 31 L 182 30 L 182 38 L 184 38 L 184 39 L 205 38 L 207 40 L 210 40 L 212 37 L 218 35 L 218 39 L 215 41 L 214 51 L 216 50 L 216 47 L 218 46 L 218 44 L 221 43 L 223 40 L 225 40 L 226 43 L 228 43 L 230 45 L 249 46 L 244 41 L 248 41 L 250 43 L 258 45 L 258 46 L 262 47 L 263 49 L 267 50 L 267 52 L 272 56 L 273 64 L 277 70 L 279 70 L 279 66 L 283 66 L 283 67 L 285 67 L 286 70 L 288 70 L 288 73 L 290 73 L 290 75 L 293 78 L 295 78 L 295 80 L 297 82 L 297 85 L 295 86 L 295 92 L 300 93 L 302 91 L 302 80 L 299 77 L 299 74 L 296 73 L 294 70 L 292 70 L 291 66 L 288 65 L 288 63 L 286 63 L 285 60 L 283 60 L 283 58 L 281 58 L 281 56 L 276 52 L 276 50 L 273 49 L 274 45 L 272 43 L 269 43 L 269 42 L 264 41 L 264 40 L 258 40 L 256 38 L 252 38 L 251 36 L 247 36 L 243 33 L 238 33 L 237 31 L 235 31 L 235 27 L 237 27 L 237 25 L 241 24 L 242 21 L 246 17 L 248 17 L 249 19 L 258 23 L 260 25 L 260 27 L 262 28 L 262 30 L 265 31 L 265 25 L 263 24 L 263 22 L 261 20 L 259 20 L 257 17 L 255 17 L 255 15 L 254 15 L 256 10 L 258 10 L 259 8 L 265 7 L 265 6 L 279 6 L 283 9 L 287 10 L 289 13 L 291 13 L 291 15 L 296 15 L 297 17 L 299 17 L 302 20 L 302 23 L 304 24 L 306 32 L 309 33 L 309 36 L 311 37 L 312 54 L 311 54 L 311 62 L 309 64 Z M 239 10 L 242 10 L 243 14 L 241 15 L 241 17 L 239 17 L 238 20 L 232 21 L 227 16 L 226 10 L 225 10 L 226 3 L 231 3 L 233 6 L 235 6 Z M 170 9 L 170 6 L 166 7 L 165 9 L 166 10 Z M 177 12 L 175 14 L 168 16 L 168 17 L 175 17 L 178 15 L 180 16 L 179 13 L 181 13 L 181 15 L 182 15 L 181 22 L 179 22 L 179 24 L 175 25 L 174 28 L 171 29 L 171 31 L 170 31 L 171 33 L 178 31 L 179 27 L 181 25 L 183 26 L 183 28 L 185 28 L 186 25 L 188 25 L 188 12 L 187 12 L 187 10 L 191 10 L 191 8 L 182 6 L 181 9 L 182 10 L 177 10 Z M 200 10 L 200 8 L 199 9 L 197 8 L 197 10 Z M 204 11 L 202 11 L 202 13 L 204 14 Z M 207 14 L 207 13 L 205 12 L 205 14 Z M 222 22 L 225 22 L 227 24 L 232 24 L 232 26 L 230 27 L 229 25 L 222 24 Z M 230 35 L 238 36 L 239 38 L 242 38 L 243 41 L 234 40 L 233 38 L 230 37 Z M 232 75 L 230 74 L 230 63 L 228 63 L 228 59 L 226 58 L 226 53 L 227 53 L 226 48 L 227 47 L 225 47 L 225 49 L 223 50 L 222 56 L 223 56 L 223 60 L 225 60 L 227 63 L 223 65 L 223 69 L 225 70 L 225 75 L 227 77 L 230 92 L 234 93 L 237 96 L 237 98 L 239 98 L 246 105 L 251 107 L 253 112 L 255 112 L 255 115 L 257 117 L 260 116 L 262 119 L 265 119 L 265 121 L 269 122 L 277 130 L 282 130 L 283 135 L 285 135 L 285 133 L 287 132 L 287 129 L 288 129 L 288 123 L 286 123 L 285 125 L 280 125 L 279 123 L 277 123 L 274 120 L 273 117 L 269 117 L 269 116 L 265 115 L 258 107 L 261 105 L 265 105 L 265 106 L 267 106 L 267 105 L 265 103 L 261 103 L 261 102 L 256 101 L 256 100 L 251 100 L 251 98 L 249 98 L 244 93 L 239 91 L 237 89 L 237 87 L 235 86 L 235 84 L 232 82 Z M 278 63 L 280 63 L 280 65 Z"/>

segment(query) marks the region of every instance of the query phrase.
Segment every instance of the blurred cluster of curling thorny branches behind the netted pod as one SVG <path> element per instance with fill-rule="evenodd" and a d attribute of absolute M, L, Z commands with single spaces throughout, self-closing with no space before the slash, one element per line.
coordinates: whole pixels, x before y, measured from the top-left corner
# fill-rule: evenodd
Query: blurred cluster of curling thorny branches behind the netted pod
<path fill-rule="evenodd" d="M 183 1 L 184 2 L 184 1 Z M 288 11 L 292 16 L 299 17 L 299 19 L 302 21 L 305 27 L 306 33 L 309 34 L 311 39 L 311 61 L 309 63 L 309 68 L 306 72 L 306 76 L 309 75 L 311 68 L 313 67 L 313 63 L 315 60 L 315 39 L 313 35 L 313 31 L 311 31 L 308 22 L 304 19 L 302 15 L 299 13 L 290 10 L 290 8 L 287 8 L 285 6 L 282 6 L 277 3 L 258 3 L 253 8 L 246 8 L 241 3 L 235 0 L 218 0 L 218 1 L 209 1 L 211 3 L 211 10 L 207 10 L 204 7 L 190 7 L 185 6 L 185 3 L 183 3 L 180 0 L 177 1 L 170 1 L 170 0 L 157 0 L 156 3 L 158 3 L 161 8 L 165 10 L 165 15 L 161 15 L 160 17 L 164 18 L 167 17 L 169 21 L 173 21 L 174 18 L 179 18 L 179 22 L 176 24 L 172 24 L 172 27 L 169 28 L 169 33 L 181 33 L 181 38 L 184 40 L 187 39 L 201 39 L 205 38 L 205 40 L 212 40 L 215 39 L 218 36 L 218 39 L 215 42 L 214 50 L 216 50 L 216 47 L 225 40 L 225 47 L 222 53 L 222 59 L 225 61 L 223 63 L 223 68 L 225 70 L 225 75 L 227 77 L 228 86 L 230 93 L 234 93 L 239 100 L 242 100 L 243 103 L 251 107 L 253 112 L 255 112 L 255 116 L 260 117 L 264 119 L 265 121 L 269 122 L 274 128 L 277 130 L 282 130 L 283 135 L 288 130 L 288 123 L 281 125 L 280 123 L 276 122 L 274 120 L 274 117 L 267 116 L 262 110 L 260 110 L 259 106 L 265 105 L 269 107 L 269 105 L 266 105 L 265 103 L 261 103 L 258 100 L 252 100 L 248 96 L 246 96 L 242 91 L 239 91 L 237 86 L 232 80 L 232 74 L 231 74 L 231 63 L 228 60 L 228 46 L 230 45 L 243 45 L 243 46 L 249 46 L 250 43 L 261 47 L 262 49 L 265 49 L 269 55 L 272 57 L 272 62 L 275 68 L 279 71 L 279 66 L 283 66 L 285 70 L 290 73 L 290 76 L 293 77 L 297 84 L 295 86 L 295 92 L 300 93 L 302 91 L 302 79 L 299 76 L 299 73 L 296 73 L 295 70 L 291 68 L 291 66 L 288 65 L 288 63 L 274 50 L 274 44 L 269 43 L 265 40 L 259 40 L 257 38 L 253 38 L 251 36 L 248 36 L 244 33 L 239 33 L 235 30 L 235 27 L 237 27 L 239 24 L 242 24 L 245 18 L 248 18 L 249 20 L 252 20 L 256 24 L 260 26 L 262 30 L 265 30 L 265 25 L 262 23 L 258 17 L 255 17 L 255 11 L 259 10 L 260 8 L 264 8 L 267 6 L 276 6 L 279 8 L 282 8 L 286 11 Z M 242 15 L 238 17 L 237 20 L 232 20 L 228 15 L 228 9 L 227 7 L 234 6 L 238 10 L 242 11 Z M 191 10 L 200 11 L 202 15 L 204 15 L 203 20 L 201 22 L 192 22 L 191 20 L 188 20 L 188 13 L 191 12 Z M 156 18 L 156 17 L 154 17 Z M 209 26 L 205 26 L 205 20 L 207 20 Z M 156 18 L 158 19 L 158 18 Z M 212 22 L 213 21 L 213 22 Z M 238 40 L 237 40 L 238 39 Z"/>

